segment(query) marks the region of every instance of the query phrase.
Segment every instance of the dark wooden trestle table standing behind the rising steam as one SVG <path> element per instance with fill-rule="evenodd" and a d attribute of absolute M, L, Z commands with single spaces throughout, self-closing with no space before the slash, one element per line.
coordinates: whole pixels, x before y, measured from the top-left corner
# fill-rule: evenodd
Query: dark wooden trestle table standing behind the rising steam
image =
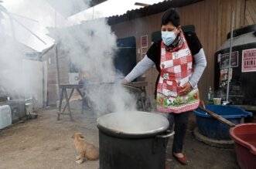
<path fill-rule="evenodd" d="M 103 84 L 107 84 L 107 83 L 103 83 Z M 109 84 L 114 84 L 114 83 L 109 83 Z M 99 84 L 96 84 L 96 85 L 99 85 Z M 145 86 L 147 86 L 147 85 L 148 85 L 147 82 L 134 82 L 134 83 L 129 83 L 127 86 L 137 87 L 137 88 L 140 88 L 143 92 L 145 92 Z M 70 120 L 73 120 L 71 109 L 70 109 L 70 98 L 72 97 L 74 90 L 77 90 L 77 92 L 80 94 L 82 99 L 84 99 L 84 92 L 81 92 L 81 89 L 84 90 L 84 89 L 86 89 L 87 86 L 95 86 L 95 84 L 93 84 L 93 83 L 60 84 L 60 103 L 59 103 L 59 108 L 58 108 L 58 112 L 57 112 L 57 114 L 58 114 L 57 120 L 60 120 L 60 115 L 69 115 Z M 71 90 L 70 96 L 67 96 L 67 90 Z M 63 95 L 65 97 L 66 104 L 62 110 L 61 106 L 62 106 L 62 101 L 63 101 Z M 66 108 L 68 110 L 68 113 L 64 113 Z M 145 104 L 143 106 L 143 109 L 145 109 Z"/>

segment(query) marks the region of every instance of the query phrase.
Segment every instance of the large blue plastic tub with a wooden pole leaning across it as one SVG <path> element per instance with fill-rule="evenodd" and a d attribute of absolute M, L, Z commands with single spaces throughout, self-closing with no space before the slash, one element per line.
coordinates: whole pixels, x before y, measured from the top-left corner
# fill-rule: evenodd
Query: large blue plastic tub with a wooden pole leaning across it
<path fill-rule="evenodd" d="M 237 106 L 208 105 L 206 109 L 235 124 L 241 123 L 243 117 L 252 116 L 251 112 Z M 196 114 L 196 124 L 200 134 L 215 140 L 230 140 L 230 127 L 227 124 L 221 123 L 203 110 L 195 110 L 194 113 Z"/>

